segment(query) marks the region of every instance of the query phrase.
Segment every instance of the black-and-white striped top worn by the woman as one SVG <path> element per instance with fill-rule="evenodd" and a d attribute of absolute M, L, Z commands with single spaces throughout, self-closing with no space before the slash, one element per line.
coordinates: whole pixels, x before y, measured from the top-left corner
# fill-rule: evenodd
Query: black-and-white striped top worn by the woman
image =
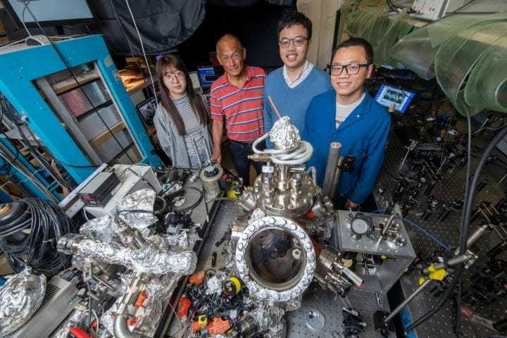
<path fill-rule="evenodd" d="M 173 103 L 183 120 L 185 128 L 184 139 L 189 156 L 198 156 L 196 154 L 194 142 L 199 149 L 199 153 L 204 154 L 204 135 L 199 125 L 199 118 L 197 118 L 197 114 L 194 112 L 187 94 L 184 94 L 184 96 L 179 99 L 173 99 Z M 194 140 L 194 142 L 192 142 L 192 140 Z"/>

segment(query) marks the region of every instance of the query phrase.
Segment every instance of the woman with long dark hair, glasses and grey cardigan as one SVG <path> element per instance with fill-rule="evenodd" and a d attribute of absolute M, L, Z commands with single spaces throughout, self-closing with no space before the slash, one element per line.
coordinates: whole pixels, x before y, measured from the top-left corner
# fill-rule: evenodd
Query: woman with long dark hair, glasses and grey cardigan
<path fill-rule="evenodd" d="M 161 102 L 154 117 L 158 142 L 176 168 L 206 165 L 213 144 L 209 132 L 208 105 L 192 87 L 187 67 L 175 55 L 156 63 Z"/>

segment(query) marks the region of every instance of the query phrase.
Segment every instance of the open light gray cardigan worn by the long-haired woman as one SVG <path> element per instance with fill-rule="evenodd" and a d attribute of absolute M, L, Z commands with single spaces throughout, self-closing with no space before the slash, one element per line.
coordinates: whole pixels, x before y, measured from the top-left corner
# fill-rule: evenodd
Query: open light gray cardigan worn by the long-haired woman
<path fill-rule="evenodd" d="M 158 107 L 154 116 L 154 125 L 157 132 L 158 143 L 161 148 L 173 161 L 173 166 L 176 168 L 190 168 L 190 159 L 188 156 L 187 146 L 185 145 L 184 136 L 181 136 L 176 129 L 173 119 L 169 116 L 168 112 L 162 106 L 162 102 Z M 202 133 L 204 135 L 204 142 L 212 153 L 213 142 L 209 132 L 208 125 L 201 125 Z"/>

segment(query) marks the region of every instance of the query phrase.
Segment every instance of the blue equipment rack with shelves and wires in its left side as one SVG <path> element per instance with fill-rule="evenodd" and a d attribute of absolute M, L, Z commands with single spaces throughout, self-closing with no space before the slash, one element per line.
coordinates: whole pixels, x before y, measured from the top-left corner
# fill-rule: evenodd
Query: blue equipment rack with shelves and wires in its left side
<path fill-rule="evenodd" d="M 61 199 L 48 190 L 51 180 L 63 183 L 58 175 L 80 184 L 102 163 L 160 165 L 103 37 L 37 41 L 0 47 L 0 63 L 11 70 L 0 73 L 0 93 L 18 112 L 2 115 L 0 143 L 17 179 L 38 197 Z M 28 161 L 16 158 L 19 149 L 29 150 Z"/>

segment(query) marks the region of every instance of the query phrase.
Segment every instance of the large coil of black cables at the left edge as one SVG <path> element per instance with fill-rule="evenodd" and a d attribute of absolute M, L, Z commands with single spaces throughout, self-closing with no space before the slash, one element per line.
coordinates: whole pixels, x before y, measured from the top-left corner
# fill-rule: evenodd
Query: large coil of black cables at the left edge
<path fill-rule="evenodd" d="M 0 249 L 17 273 L 25 265 L 57 273 L 70 265 L 70 256 L 58 253 L 56 242 L 76 231 L 76 225 L 57 206 L 42 199 L 21 199 L 0 220 Z"/>

